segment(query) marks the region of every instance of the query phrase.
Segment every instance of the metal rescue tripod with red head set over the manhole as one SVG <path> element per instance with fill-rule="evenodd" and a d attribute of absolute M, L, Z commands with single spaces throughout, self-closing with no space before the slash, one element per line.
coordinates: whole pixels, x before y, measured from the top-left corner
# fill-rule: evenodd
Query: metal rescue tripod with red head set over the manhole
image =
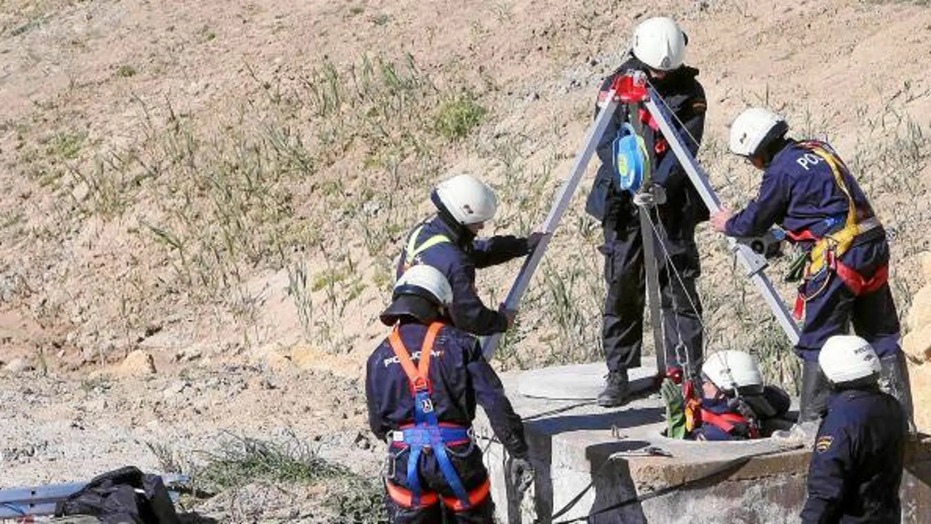
<path fill-rule="evenodd" d="M 560 224 L 562 215 L 582 181 L 582 176 L 595 153 L 595 149 L 600 141 L 601 135 L 604 134 L 608 122 L 611 120 L 614 111 L 620 103 L 641 104 L 654 118 L 658 124 L 659 130 L 663 137 L 668 141 L 671 151 L 679 160 L 681 167 L 685 170 L 689 180 L 695 186 L 698 194 L 708 207 L 711 213 L 721 209 L 721 201 L 715 194 L 708 181 L 708 174 L 702 169 L 695 156 L 685 147 L 680 133 L 669 123 L 670 115 L 664 110 L 657 101 L 662 101 L 652 87 L 647 84 L 646 75 L 641 72 L 628 72 L 614 79 L 604 107 L 601 108 L 595 123 L 589 128 L 583 147 L 578 155 L 575 156 L 573 168 L 569 176 L 563 181 L 559 195 L 553 201 L 553 205 L 546 216 L 546 221 L 540 228 L 545 233 L 540 243 L 533 253 L 527 257 L 520 272 L 514 281 L 505 300 L 505 306 L 509 309 L 517 309 L 520 299 L 522 298 L 533 272 L 536 270 L 540 261 L 543 259 L 549 240 L 556 228 Z M 652 147 L 650 148 L 652 150 Z M 652 163 L 651 163 L 652 166 Z M 650 307 L 650 314 L 653 318 L 653 334 L 656 348 L 657 372 L 663 373 L 666 369 L 666 348 L 663 334 L 662 311 L 660 305 L 659 279 L 656 269 L 655 245 L 654 245 L 654 227 L 650 222 L 649 209 L 641 208 L 641 236 L 643 239 L 644 269 L 646 271 L 646 288 L 647 299 Z M 661 240 L 661 239 L 660 239 Z M 662 245 L 661 245 L 662 246 Z M 789 314 L 789 309 L 785 302 L 779 297 L 772 281 L 763 270 L 768 266 L 766 259 L 756 251 L 750 248 L 749 244 L 744 241 L 737 241 L 735 238 L 728 237 L 728 246 L 734 253 L 735 258 L 740 261 L 745 270 L 745 275 L 753 282 L 756 289 L 762 295 L 763 300 L 769 306 L 776 321 L 786 333 L 789 342 L 797 343 L 799 340 L 799 327 Z M 491 359 L 494 354 L 495 345 L 498 343 L 500 335 L 493 335 L 485 339 L 482 345 L 482 353 L 486 358 Z"/>

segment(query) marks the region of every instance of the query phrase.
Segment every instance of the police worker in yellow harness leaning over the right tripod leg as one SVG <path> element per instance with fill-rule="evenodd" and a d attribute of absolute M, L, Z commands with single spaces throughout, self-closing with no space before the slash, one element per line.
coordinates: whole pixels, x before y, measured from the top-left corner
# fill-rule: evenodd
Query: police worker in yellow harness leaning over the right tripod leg
<path fill-rule="evenodd" d="M 803 359 L 799 423 L 816 421 L 830 389 L 818 352 L 852 323 L 880 358 L 889 393 L 911 420 L 911 390 L 905 355 L 898 345 L 896 304 L 887 282 L 889 245 L 866 195 L 843 160 L 823 141 L 787 138 L 786 120 L 763 108 L 739 114 L 730 130 L 730 150 L 761 169 L 757 198 L 734 213 L 711 217 L 729 236 L 759 236 L 776 223 L 803 252 L 807 267 L 795 314 L 804 325 L 795 346 Z"/>

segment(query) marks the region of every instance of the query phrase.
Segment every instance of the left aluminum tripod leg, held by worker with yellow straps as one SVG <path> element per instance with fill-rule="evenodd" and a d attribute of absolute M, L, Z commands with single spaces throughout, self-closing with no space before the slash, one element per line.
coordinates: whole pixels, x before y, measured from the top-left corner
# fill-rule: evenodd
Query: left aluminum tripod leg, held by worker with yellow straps
<path fill-rule="evenodd" d="M 523 266 L 520 267 L 520 273 L 517 279 L 514 280 L 514 285 L 511 286 L 511 290 L 507 293 L 507 298 L 505 299 L 506 308 L 517 309 L 524 291 L 527 290 L 527 286 L 530 284 L 533 272 L 536 271 L 536 267 L 543 259 L 544 253 L 546 253 L 546 248 L 549 246 L 549 239 L 552 233 L 556 231 L 557 226 L 560 225 L 560 220 L 562 220 L 563 213 L 569 208 L 569 203 L 572 201 L 573 195 L 575 195 L 575 190 L 578 189 L 579 183 L 582 181 L 583 175 L 585 175 L 588 161 L 591 160 L 591 155 L 595 154 L 598 141 L 601 139 L 601 135 L 604 134 L 604 129 L 608 127 L 608 122 L 611 121 L 614 110 L 617 109 L 617 103 L 618 101 L 614 96 L 614 89 L 612 89 L 608 93 L 607 103 L 601 108 L 598 118 L 595 119 L 595 123 L 588 129 L 582 151 L 575 156 L 575 163 L 573 164 L 572 170 L 569 172 L 569 176 L 562 182 L 559 196 L 556 197 L 552 207 L 549 208 L 549 214 L 546 216 L 546 221 L 543 222 L 541 228 L 543 233 L 549 235 L 544 235 L 544 237 L 540 239 L 540 243 L 537 244 L 536 249 L 533 249 L 533 253 L 524 260 Z M 494 347 L 497 345 L 500 337 L 501 335 L 499 333 L 485 338 L 481 347 L 481 352 L 485 355 L 485 358 L 491 360 L 494 355 Z"/>

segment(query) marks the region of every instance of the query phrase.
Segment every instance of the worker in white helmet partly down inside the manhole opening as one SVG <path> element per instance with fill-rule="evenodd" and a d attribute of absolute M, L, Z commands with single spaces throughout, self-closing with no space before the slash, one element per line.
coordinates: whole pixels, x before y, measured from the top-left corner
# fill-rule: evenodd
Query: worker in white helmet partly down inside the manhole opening
<path fill-rule="evenodd" d="M 667 403 L 668 431 L 673 438 L 693 440 L 745 440 L 768 437 L 792 422 L 789 395 L 763 385 L 756 359 L 742 351 L 719 351 L 702 366 L 701 394 L 686 383 L 666 380 L 662 395 Z"/>

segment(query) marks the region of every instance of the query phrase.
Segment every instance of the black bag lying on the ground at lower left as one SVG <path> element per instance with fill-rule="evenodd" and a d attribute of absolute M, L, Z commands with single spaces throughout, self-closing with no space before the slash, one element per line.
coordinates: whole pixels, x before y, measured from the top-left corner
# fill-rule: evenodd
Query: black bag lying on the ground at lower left
<path fill-rule="evenodd" d="M 104 473 L 55 507 L 55 517 L 91 515 L 107 524 L 180 524 L 169 490 L 135 466 Z"/>

